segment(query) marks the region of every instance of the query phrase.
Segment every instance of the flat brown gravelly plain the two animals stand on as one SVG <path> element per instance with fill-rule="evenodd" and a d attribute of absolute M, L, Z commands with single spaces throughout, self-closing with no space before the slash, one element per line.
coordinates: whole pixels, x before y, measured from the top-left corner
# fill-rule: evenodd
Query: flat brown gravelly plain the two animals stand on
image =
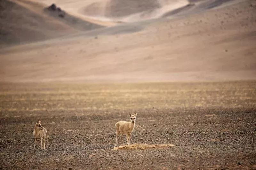
<path fill-rule="evenodd" d="M 0 169 L 255 169 L 256 82 L 1 84 Z M 137 112 L 131 143 L 114 125 Z M 46 150 L 33 151 L 37 119 Z M 120 144 L 120 143 L 119 143 Z"/>

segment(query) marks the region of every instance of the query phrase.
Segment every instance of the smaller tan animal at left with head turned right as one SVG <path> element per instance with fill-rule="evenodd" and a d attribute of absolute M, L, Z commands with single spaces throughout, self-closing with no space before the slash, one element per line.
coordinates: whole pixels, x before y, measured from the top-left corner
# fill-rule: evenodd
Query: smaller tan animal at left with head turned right
<path fill-rule="evenodd" d="M 46 135 L 47 130 L 41 125 L 41 121 L 37 121 L 34 131 L 33 131 L 33 136 L 35 137 L 35 145 L 34 149 L 36 147 L 36 139 L 41 139 L 41 149 L 45 149 L 45 135 Z M 42 139 L 44 139 L 44 148 L 42 146 Z M 34 150 L 33 149 L 33 150 Z"/>

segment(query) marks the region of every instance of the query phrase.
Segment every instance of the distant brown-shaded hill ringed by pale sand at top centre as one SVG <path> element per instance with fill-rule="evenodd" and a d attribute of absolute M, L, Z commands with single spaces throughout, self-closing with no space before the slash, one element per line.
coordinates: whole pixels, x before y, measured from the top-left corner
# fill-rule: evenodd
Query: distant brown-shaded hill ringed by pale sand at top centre
<path fill-rule="evenodd" d="M 188 4 L 188 0 L 101 0 L 85 6 L 83 14 L 114 21 L 136 22 L 159 18 L 168 11 Z"/>

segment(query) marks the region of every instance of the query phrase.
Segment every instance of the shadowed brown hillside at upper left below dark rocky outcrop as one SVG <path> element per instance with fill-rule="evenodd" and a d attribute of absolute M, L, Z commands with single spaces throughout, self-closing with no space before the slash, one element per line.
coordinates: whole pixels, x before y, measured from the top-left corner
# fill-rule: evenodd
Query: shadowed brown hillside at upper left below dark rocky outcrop
<path fill-rule="evenodd" d="M 68 15 L 56 17 L 30 1 L 0 1 L 0 46 L 42 41 L 102 26 Z M 46 12 L 47 11 L 47 12 Z"/>

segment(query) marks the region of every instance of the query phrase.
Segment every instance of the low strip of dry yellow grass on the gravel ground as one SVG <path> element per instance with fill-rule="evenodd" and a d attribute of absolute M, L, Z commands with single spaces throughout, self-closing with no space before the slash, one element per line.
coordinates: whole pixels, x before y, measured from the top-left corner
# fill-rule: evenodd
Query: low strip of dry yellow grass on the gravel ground
<path fill-rule="evenodd" d="M 133 149 L 158 149 L 174 146 L 173 144 L 131 144 L 115 147 L 114 150 L 133 150 Z"/>

